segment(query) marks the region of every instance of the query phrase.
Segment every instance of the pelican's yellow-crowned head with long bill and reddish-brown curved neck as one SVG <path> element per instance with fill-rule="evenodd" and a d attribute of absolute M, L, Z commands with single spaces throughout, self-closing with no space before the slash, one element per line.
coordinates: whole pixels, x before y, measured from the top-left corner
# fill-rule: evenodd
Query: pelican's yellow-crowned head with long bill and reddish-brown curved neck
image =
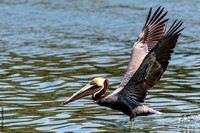
<path fill-rule="evenodd" d="M 108 83 L 109 82 L 107 79 L 100 77 L 94 78 L 86 86 L 84 86 L 74 95 L 72 95 L 69 99 L 67 99 L 67 101 L 65 101 L 63 105 L 88 95 L 92 95 L 92 99 L 97 101 L 101 97 L 101 95 L 103 95 L 106 92 Z"/>

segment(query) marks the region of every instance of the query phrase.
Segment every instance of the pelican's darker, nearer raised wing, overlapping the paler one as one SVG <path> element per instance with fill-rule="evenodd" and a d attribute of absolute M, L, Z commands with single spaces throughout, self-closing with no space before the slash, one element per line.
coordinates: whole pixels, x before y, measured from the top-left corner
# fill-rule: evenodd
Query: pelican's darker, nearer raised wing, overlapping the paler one
<path fill-rule="evenodd" d="M 143 102 L 148 89 L 153 87 L 167 68 L 171 54 L 174 51 L 180 32 L 182 21 L 177 20 L 172 24 L 164 37 L 147 54 L 135 74 L 128 81 L 123 89 L 118 88 L 118 94 L 123 97 L 134 98 Z"/>

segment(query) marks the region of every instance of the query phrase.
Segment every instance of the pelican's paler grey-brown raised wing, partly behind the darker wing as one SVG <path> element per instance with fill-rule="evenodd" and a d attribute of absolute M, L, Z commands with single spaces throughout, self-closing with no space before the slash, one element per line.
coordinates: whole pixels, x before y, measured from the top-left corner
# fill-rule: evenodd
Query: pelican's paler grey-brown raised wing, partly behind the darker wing
<path fill-rule="evenodd" d="M 159 7 L 151 16 L 152 8 L 149 11 L 146 23 L 140 33 L 136 43 L 133 45 L 132 55 L 128 64 L 126 73 L 121 81 L 120 87 L 123 88 L 133 74 L 136 72 L 144 57 L 156 45 L 156 43 L 163 37 L 165 23 L 168 19 L 164 19 L 167 12 L 162 14 L 164 8 Z"/>

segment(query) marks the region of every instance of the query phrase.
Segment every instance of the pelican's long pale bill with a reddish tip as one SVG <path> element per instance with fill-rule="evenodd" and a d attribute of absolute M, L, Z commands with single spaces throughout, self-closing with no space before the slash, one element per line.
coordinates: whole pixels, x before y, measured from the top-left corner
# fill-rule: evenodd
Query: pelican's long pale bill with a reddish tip
<path fill-rule="evenodd" d="M 87 84 L 74 95 L 72 95 L 67 101 L 63 103 L 63 105 L 72 102 L 74 100 L 80 99 L 81 97 L 88 96 L 93 94 L 98 88 L 94 87 L 93 85 Z"/>

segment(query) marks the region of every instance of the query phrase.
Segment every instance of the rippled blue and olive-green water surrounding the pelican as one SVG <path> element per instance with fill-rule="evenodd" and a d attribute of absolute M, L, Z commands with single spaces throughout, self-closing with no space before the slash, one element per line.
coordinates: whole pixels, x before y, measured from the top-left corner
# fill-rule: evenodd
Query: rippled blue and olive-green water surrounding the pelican
<path fill-rule="evenodd" d="M 184 21 L 172 60 L 144 105 L 164 115 L 129 117 L 91 96 L 61 103 L 95 77 L 118 87 L 150 7 Z M 200 131 L 200 1 L 0 1 L 1 132 Z"/>

